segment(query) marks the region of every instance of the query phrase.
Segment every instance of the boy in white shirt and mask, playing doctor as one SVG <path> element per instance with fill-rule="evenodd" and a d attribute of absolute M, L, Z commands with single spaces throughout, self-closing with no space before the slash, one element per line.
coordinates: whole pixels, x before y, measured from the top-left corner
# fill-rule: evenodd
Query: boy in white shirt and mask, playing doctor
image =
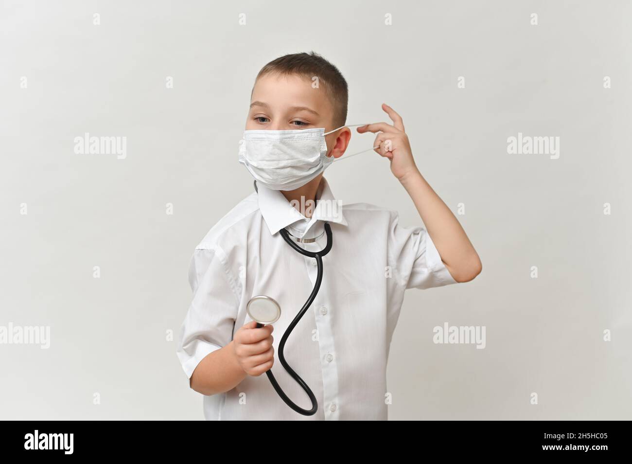
<path fill-rule="evenodd" d="M 193 253 L 193 300 L 178 346 L 190 387 L 205 395 L 207 420 L 386 420 L 386 363 L 404 290 L 466 282 L 481 271 L 465 231 L 416 168 L 401 117 L 386 104 L 392 125 L 357 131 L 377 133 L 375 152 L 389 159 L 427 229 L 404 228 L 396 211 L 375 205 L 335 207 L 323 171 L 351 138 L 344 127 L 347 101 L 344 77 L 313 52 L 277 58 L 255 79 L 246 121 L 246 133 L 254 136 L 245 135 L 240 162 L 257 190 Z M 320 157 L 319 128 L 328 133 Z M 262 374 L 274 367 L 288 397 L 310 407 L 274 354 L 312 293 L 317 262 L 293 250 L 280 231 L 318 252 L 327 245 L 325 223 L 332 248 L 322 258 L 320 291 L 284 348 L 318 402 L 315 414 L 302 415 Z M 255 295 L 270 296 L 282 308 L 276 338 L 272 324 L 257 328 L 246 312 Z"/>

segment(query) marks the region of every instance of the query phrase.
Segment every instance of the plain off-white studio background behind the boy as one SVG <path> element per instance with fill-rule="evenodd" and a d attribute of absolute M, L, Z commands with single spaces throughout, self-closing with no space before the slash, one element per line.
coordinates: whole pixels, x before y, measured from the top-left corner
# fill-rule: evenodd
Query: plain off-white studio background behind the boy
<path fill-rule="evenodd" d="M 313 50 L 348 80 L 349 124 L 387 120 L 382 102 L 403 116 L 422 174 L 455 214 L 465 205 L 483 263 L 470 283 L 408 291 L 389 418 L 631 418 L 631 13 L 628 1 L 3 1 L 0 325 L 50 326 L 51 347 L 0 345 L 0 417 L 202 418 L 166 333 L 177 339 L 190 302 L 193 248 L 252 192 L 237 153 L 257 71 Z M 85 132 L 126 137 L 126 159 L 75 154 Z M 507 154 L 518 132 L 560 137 L 559 159 Z M 373 139 L 355 134 L 349 153 Z M 325 176 L 344 202 L 420 223 L 374 152 Z M 485 326 L 486 348 L 435 345 L 444 322 Z"/>

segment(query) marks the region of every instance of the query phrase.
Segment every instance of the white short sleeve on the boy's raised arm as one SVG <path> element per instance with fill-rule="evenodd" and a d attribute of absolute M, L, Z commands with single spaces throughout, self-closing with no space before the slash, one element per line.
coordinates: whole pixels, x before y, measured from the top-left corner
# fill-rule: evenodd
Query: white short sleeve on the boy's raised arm
<path fill-rule="evenodd" d="M 456 283 L 427 230 L 399 225 L 396 211 L 391 212 L 389 258 L 405 288 L 427 289 Z"/>

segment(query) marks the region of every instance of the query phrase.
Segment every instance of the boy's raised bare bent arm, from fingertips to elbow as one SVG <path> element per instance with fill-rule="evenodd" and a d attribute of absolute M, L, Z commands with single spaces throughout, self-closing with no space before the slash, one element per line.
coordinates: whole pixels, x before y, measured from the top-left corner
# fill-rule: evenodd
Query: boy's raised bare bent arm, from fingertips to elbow
<path fill-rule="evenodd" d="M 457 282 L 467 282 L 482 270 L 478 253 L 453 212 L 423 178 L 415 164 L 404 124 L 390 106 L 382 104 L 393 125 L 375 123 L 358 128 L 358 132 L 379 132 L 374 151 L 391 161 L 391 171 L 415 203 L 428 235 L 437 247 L 441 260 Z"/>

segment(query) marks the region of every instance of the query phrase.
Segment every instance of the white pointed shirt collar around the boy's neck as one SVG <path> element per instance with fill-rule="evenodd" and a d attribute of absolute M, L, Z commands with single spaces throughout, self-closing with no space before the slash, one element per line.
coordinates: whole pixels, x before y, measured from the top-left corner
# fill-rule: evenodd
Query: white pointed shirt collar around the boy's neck
<path fill-rule="evenodd" d="M 327 221 L 343 226 L 347 225 L 347 221 L 343 216 L 341 202 L 334 198 L 329 183 L 324 176 L 320 180 L 319 188 L 316 192 L 317 202 L 312 217 L 303 216 L 298 209 L 288 202 L 288 199 L 284 197 L 283 193 L 279 190 L 267 188 L 257 181 L 255 181 L 255 183 L 257 184 L 259 210 L 272 235 L 298 221 L 307 224 L 303 235 L 305 235 L 317 221 Z"/>

